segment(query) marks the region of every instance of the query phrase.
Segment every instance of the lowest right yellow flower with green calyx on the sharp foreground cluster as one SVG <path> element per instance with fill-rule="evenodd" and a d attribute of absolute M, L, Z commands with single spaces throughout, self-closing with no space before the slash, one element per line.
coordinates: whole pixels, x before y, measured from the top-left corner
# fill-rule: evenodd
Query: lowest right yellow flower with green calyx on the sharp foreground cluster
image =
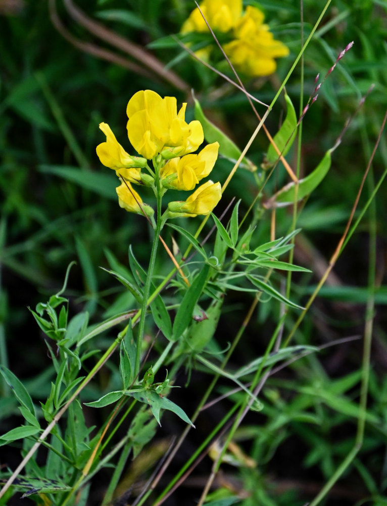
<path fill-rule="evenodd" d="M 222 196 L 220 183 L 207 181 L 184 202 L 169 202 L 171 217 L 209 215 Z M 180 214 L 181 213 L 181 214 Z"/>

